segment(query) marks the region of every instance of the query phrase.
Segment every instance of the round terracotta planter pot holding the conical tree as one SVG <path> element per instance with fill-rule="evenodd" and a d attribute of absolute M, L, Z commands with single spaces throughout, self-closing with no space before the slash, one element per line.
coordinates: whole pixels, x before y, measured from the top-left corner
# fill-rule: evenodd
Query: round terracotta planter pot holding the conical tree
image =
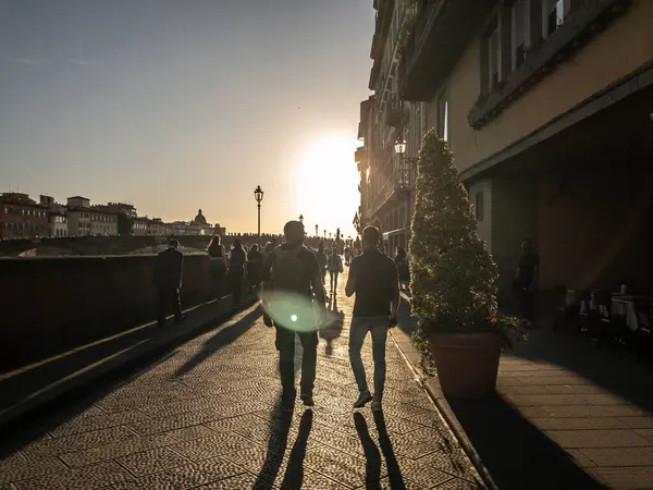
<path fill-rule="evenodd" d="M 451 333 L 429 338 L 440 385 L 445 395 L 481 399 L 496 390 L 501 336 Z"/>

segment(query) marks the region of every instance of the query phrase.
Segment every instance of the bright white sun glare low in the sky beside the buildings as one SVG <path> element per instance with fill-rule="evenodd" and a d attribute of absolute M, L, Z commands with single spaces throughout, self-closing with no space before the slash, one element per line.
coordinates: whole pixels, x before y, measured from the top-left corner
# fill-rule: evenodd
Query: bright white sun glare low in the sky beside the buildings
<path fill-rule="evenodd" d="M 306 231 L 320 234 L 326 229 L 354 234 L 352 221 L 358 210 L 359 174 L 354 151 L 360 145 L 346 136 L 325 136 L 311 142 L 300 155 L 297 164 L 296 207 L 306 218 Z"/>

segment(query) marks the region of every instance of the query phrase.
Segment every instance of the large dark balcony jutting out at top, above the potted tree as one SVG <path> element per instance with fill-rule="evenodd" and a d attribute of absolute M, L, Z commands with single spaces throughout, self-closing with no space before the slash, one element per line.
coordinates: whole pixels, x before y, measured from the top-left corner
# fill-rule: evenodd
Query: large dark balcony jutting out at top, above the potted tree
<path fill-rule="evenodd" d="M 489 0 L 422 0 L 399 69 L 404 100 L 433 97 L 495 5 Z"/>

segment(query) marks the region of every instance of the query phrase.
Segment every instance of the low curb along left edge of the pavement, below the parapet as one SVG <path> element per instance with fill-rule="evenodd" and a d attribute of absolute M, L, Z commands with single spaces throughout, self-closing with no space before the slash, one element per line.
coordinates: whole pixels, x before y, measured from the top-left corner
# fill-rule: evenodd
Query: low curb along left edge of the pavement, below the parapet
<path fill-rule="evenodd" d="M 153 353 L 181 345 L 201 333 L 202 330 L 207 329 L 208 327 L 217 326 L 217 323 L 224 323 L 234 316 L 246 313 L 257 303 L 258 297 L 255 296 L 254 298 L 244 302 L 244 305 L 238 310 L 234 311 L 230 308 L 231 296 L 226 296 L 185 309 L 184 314 L 193 313 L 199 317 L 197 324 L 193 324 L 190 327 L 184 326 L 177 329 L 174 327 L 168 327 L 162 334 L 155 335 L 145 342 L 139 342 L 115 354 L 101 358 L 46 385 L 45 388 L 36 390 L 28 396 L 21 400 L 19 403 L 0 412 L 0 427 L 56 401 L 73 390 L 81 389 L 91 381 L 107 377 L 130 364 L 135 364 L 139 360 L 145 362 L 148 358 L 147 356 Z M 218 311 L 213 311 L 212 307 L 215 306 L 218 307 Z M 150 327 L 158 328 L 156 322 L 150 322 L 135 327 L 133 330 Z"/>

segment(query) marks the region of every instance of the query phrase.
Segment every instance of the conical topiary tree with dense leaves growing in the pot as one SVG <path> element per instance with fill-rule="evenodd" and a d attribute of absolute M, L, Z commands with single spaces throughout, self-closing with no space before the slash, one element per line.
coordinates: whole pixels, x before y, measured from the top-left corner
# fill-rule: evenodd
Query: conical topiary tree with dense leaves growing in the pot
<path fill-rule="evenodd" d="M 419 335 L 498 330 L 498 271 L 477 225 L 447 144 L 433 130 L 418 158 L 410 240 L 412 311 Z"/>

